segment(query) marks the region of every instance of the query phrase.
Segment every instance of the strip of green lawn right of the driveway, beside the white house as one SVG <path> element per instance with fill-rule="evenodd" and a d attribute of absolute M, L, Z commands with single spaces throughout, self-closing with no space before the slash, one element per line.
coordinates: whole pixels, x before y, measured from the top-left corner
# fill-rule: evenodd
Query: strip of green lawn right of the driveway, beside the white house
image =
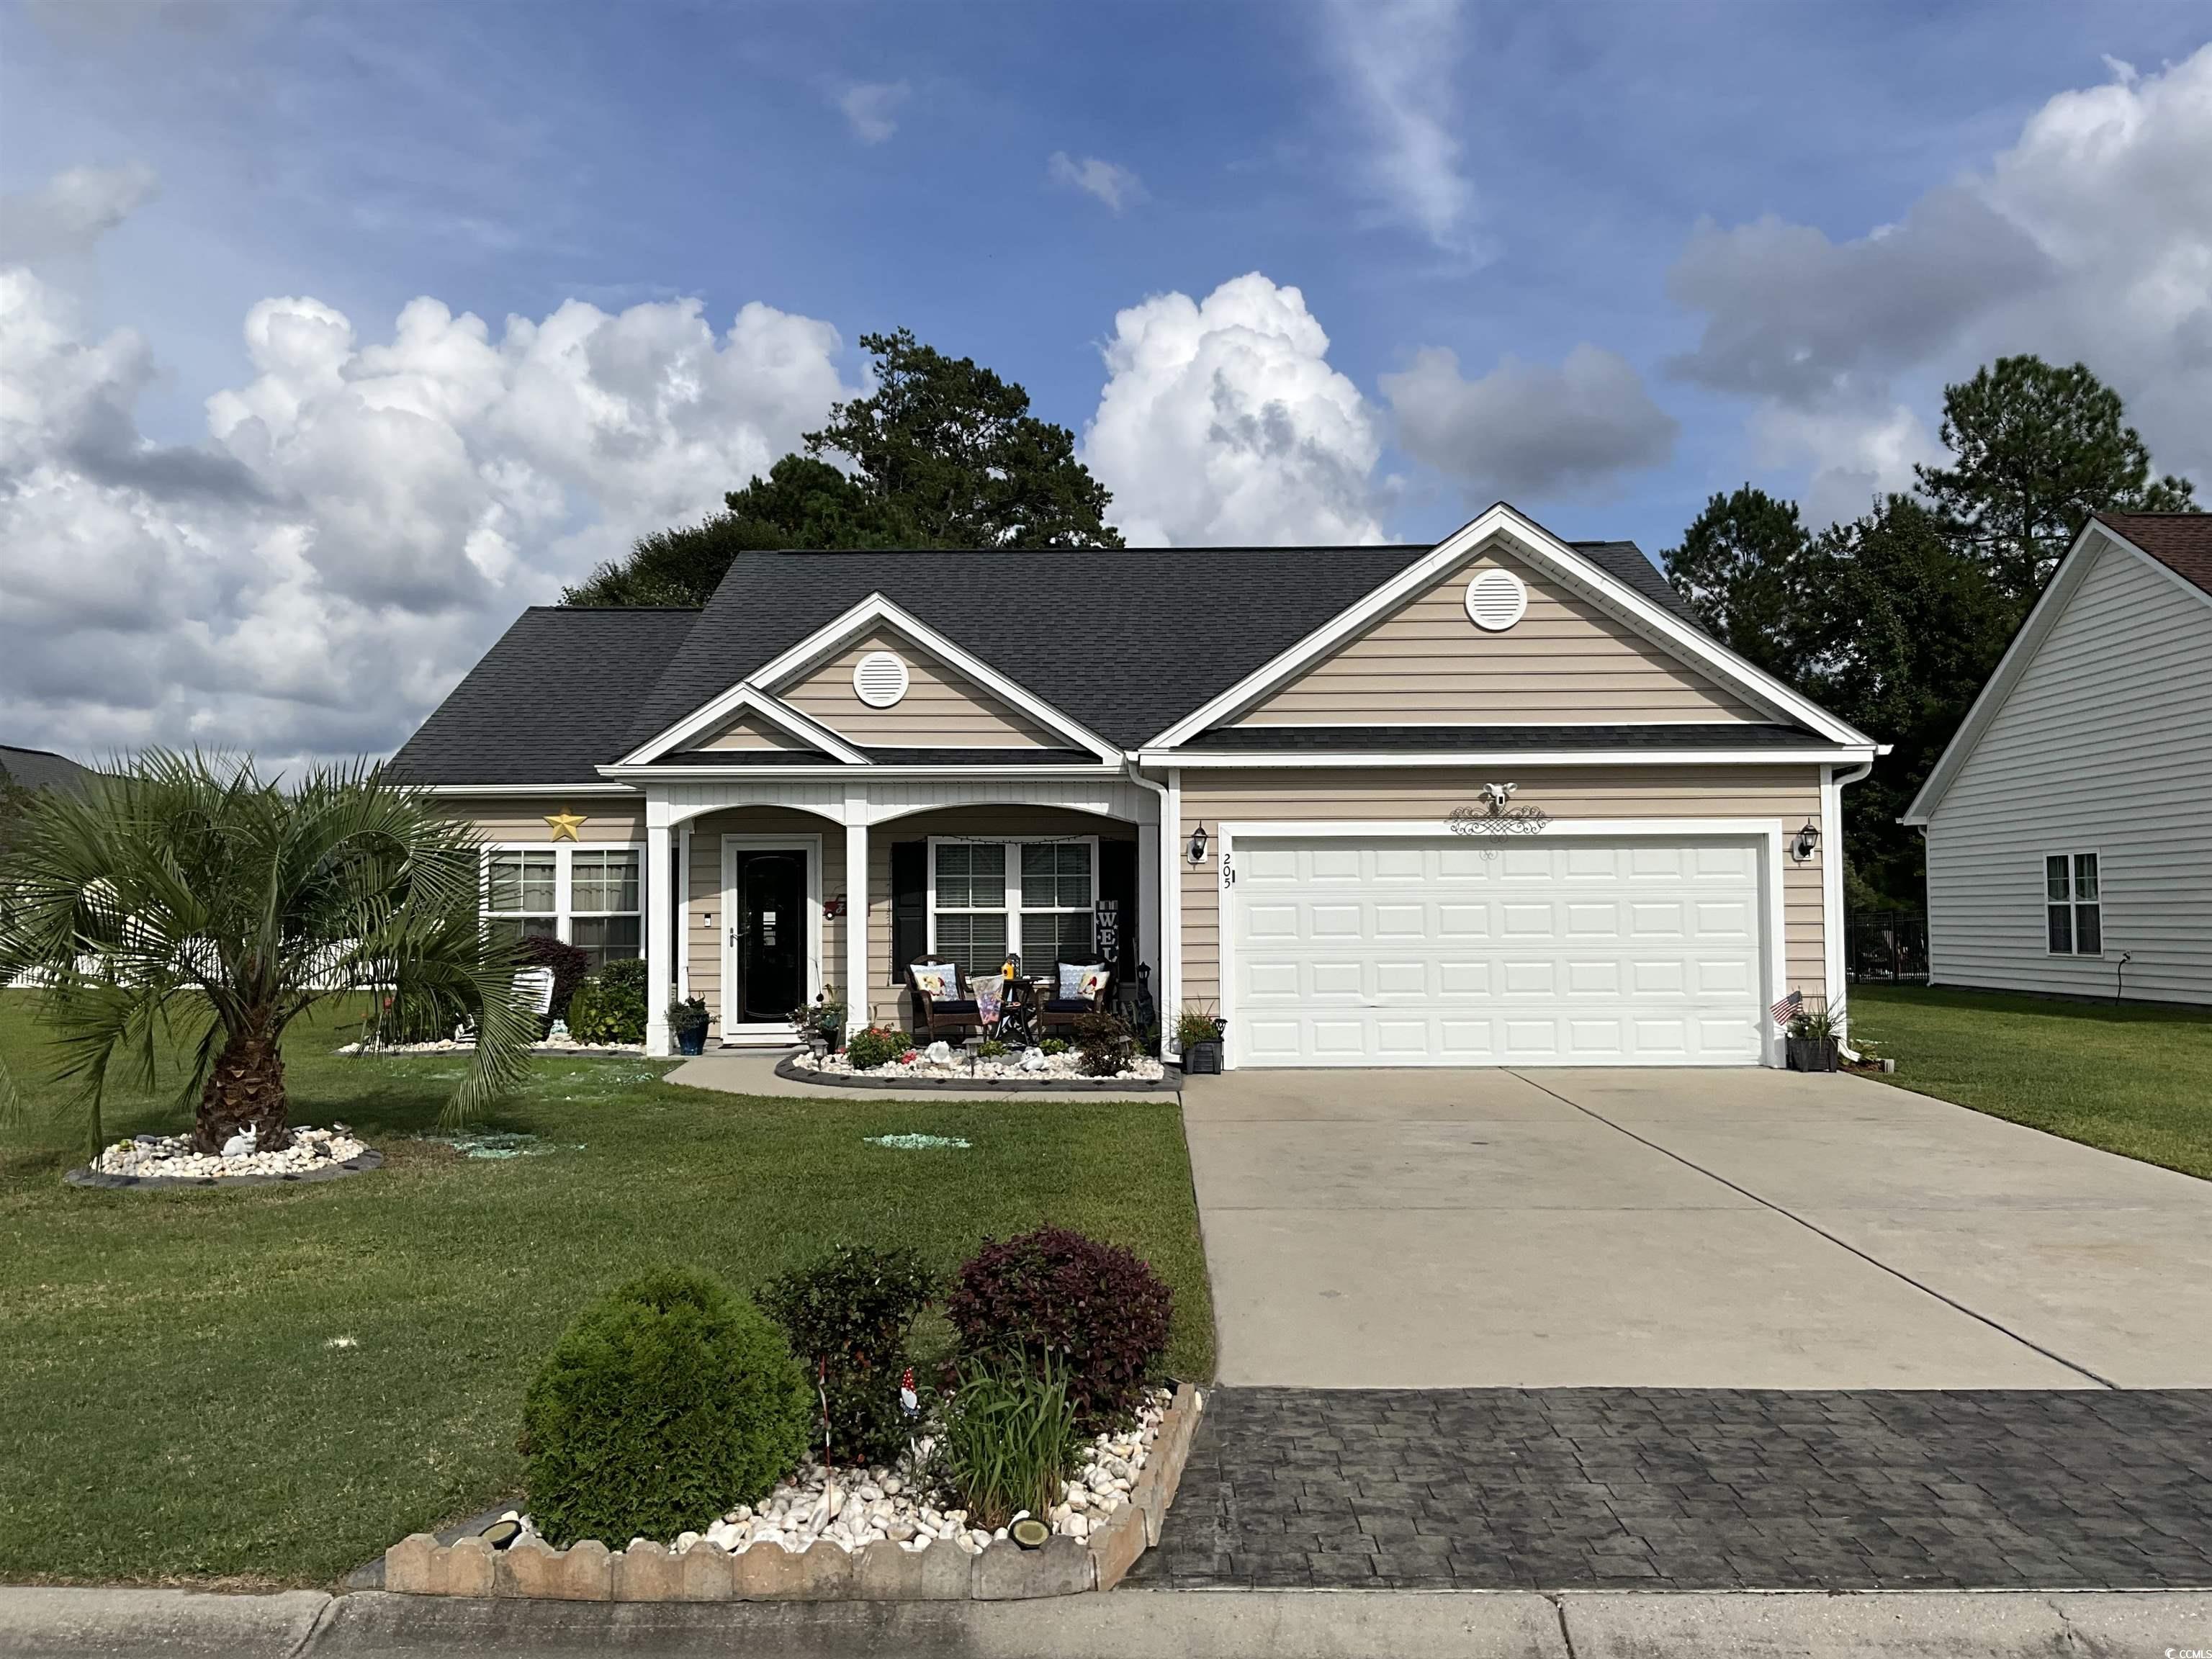
<path fill-rule="evenodd" d="M 1860 984 L 1885 1082 L 2212 1181 L 2212 1013 Z"/>

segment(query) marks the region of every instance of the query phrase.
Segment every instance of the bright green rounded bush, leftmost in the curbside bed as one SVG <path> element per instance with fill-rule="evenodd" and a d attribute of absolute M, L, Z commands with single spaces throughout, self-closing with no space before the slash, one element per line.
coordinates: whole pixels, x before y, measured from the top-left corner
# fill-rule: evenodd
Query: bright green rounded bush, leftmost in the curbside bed
<path fill-rule="evenodd" d="M 783 1332 L 714 1274 L 661 1267 L 586 1307 L 531 1380 L 531 1520 L 608 1548 L 706 1531 L 799 1467 L 812 1422 Z"/>

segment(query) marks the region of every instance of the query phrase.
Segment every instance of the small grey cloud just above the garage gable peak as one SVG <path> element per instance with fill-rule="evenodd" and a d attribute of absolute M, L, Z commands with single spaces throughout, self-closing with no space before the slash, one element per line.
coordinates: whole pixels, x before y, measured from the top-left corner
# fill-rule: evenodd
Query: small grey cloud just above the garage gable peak
<path fill-rule="evenodd" d="M 1460 374 L 1453 352 L 1427 347 L 1380 385 L 1400 447 L 1480 504 L 1601 489 L 1674 453 L 1677 422 L 1644 376 L 1588 343 L 1557 367 L 1506 356 L 1480 380 Z"/>

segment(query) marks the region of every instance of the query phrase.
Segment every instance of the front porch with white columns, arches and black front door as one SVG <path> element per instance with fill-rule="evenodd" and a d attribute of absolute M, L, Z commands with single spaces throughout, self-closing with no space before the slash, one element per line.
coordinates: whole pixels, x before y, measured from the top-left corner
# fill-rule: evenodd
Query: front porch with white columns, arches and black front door
<path fill-rule="evenodd" d="M 653 781 L 646 891 L 672 896 L 646 916 L 655 1055 L 670 998 L 708 1004 L 710 1046 L 787 1046 L 785 1013 L 825 987 L 852 1026 L 905 1026 L 925 958 L 1102 960 L 1102 900 L 1113 962 L 1164 991 L 1159 796 L 1128 779 Z"/>

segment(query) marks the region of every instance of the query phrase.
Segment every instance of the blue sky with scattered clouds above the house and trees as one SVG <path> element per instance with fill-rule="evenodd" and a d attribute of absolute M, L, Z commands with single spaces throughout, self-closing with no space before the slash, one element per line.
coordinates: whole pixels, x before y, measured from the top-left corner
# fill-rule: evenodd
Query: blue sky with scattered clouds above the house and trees
<path fill-rule="evenodd" d="M 199 684 L 102 701 L 18 655 L 0 668 L 9 741 L 177 741 L 228 721 L 319 752 L 403 730 L 513 608 L 639 515 L 712 504 L 741 482 L 728 467 L 812 425 L 823 374 L 856 385 L 860 332 L 900 323 L 1022 380 L 1053 420 L 1097 420 L 1093 465 L 1179 542 L 1433 540 L 1504 491 L 1562 533 L 1657 553 L 1745 478 L 1816 518 L 1856 511 L 1929 453 L 1942 380 L 1997 349 L 2088 354 L 2161 460 L 2212 471 L 2212 206 L 2185 161 L 2212 135 L 2208 38 L 2208 13 L 2179 4 L 9 9 L 7 217 L 46 223 L 31 215 L 80 170 L 62 228 L 18 248 L 40 314 L 62 319 L 40 338 L 60 330 L 80 363 L 126 332 L 133 365 L 97 398 L 124 409 L 119 442 L 212 456 L 246 502 L 179 520 L 128 568 L 259 542 L 319 573 L 285 566 L 288 626 L 405 659 L 383 726 L 330 717 L 343 692 L 299 661 L 241 666 L 250 562 L 192 588 L 186 608 L 210 608 L 197 641 L 173 639 L 175 613 L 69 615 L 55 562 L 100 546 L 100 511 L 148 511 L 113 495 L 117 467 L 93 469 L 86 500 L 106 495 L 77 518 L 49 502 L 0 555 L 38 591 L 20 615 L 77 650 L 153 630 L 181 653 L 168 679 Z M 2119 303 L 2112 250 L 2132 237 L 2168 272 L 2154 305 Z M 1208 301 L 1248 272 L 1265 283 Z M 1194 310 L 1144 314 L 1150 356 L 1130 345 L 1113 369 L 1108 420 L 1117 314 L 1170 294 Z M 361 484 L 296 460 L 312 434 L 270 409 L 294 420 L 305 380 L 285 392 L 248 352 L 248 316 L 279 296 L 349 321 L 354 354 L 332 361 L 356 389 L 374 369 L 358 352 L 392 343 L 418 296 L 476 314 L 493 345 L 504 319 L 571 301 L 617 316 L 681 299 L 717 336 L 763 305 L 836 341 L 794 343 L 790 323 L 774 349 L 827 367 L 792 369 L 768 411 L 745 387 L 701 405 L 750 436 L 695 434 L 650 487 L 502 449 L 491 434 L 535 418 L 524 389 L 471 394 L 449 418 L 456 453 L 478 473 L 535 467 L 557 507 L 453 495 L 403 553 L 352 549 L 420 566 L 367 593 L 325 557 L 374 515 Z M 2124 327 L 2115 307 L 2141 316 Z M 1252 330 L 1274 343 L 1252 347 Z M 637 347 L 639 374 L 686 372 L 672 338 Z M 392 398 L 445 396 L 420 385 Z M 221 392 L 259 411 L 254 442 L 290 471 L 243 427 L 215 429 Z M 1203 431 L 1208 398 L 1281 442 L 1172 476 L 1190 442 L 1161 434 Z M 64 438 L 55 453 L 84 447 Z M 405 511 L 447 511 L 425 502 Z M 462 557 L 487 513 L 504 551 Z M 341 599 L 420 626 L 378 635 Z"/>

